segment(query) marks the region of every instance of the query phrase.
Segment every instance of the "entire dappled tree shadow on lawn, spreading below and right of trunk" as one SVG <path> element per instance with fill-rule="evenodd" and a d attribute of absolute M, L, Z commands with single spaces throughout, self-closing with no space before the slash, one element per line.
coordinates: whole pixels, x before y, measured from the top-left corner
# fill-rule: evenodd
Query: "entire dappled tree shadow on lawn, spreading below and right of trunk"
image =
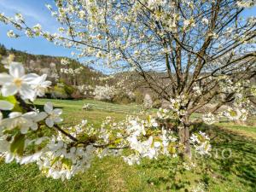
<path fill-rule="evenodd" d="M 234 190 L 237 186 L 244 186 L 243 191 L 254 191 L 256 189 L 256 141 L 215 125 L 201 125 L 196 131 L 206 131 L 213 138 L 211 140 L 212 157 L 196 161 L 195 171 L 185 170 L 183 162 L 178 158 L 146 161 L 142 165 L 143 169 L 148 169 L 149 172 L 167 172 L 148 177 L 146 180 L 148 184 L 164 185 L 166 190 L 171 189 L 171 191 L 179 189 L 186 191 L 196 183 L 204 183 L 206 186 L 229 184 Z"/>

